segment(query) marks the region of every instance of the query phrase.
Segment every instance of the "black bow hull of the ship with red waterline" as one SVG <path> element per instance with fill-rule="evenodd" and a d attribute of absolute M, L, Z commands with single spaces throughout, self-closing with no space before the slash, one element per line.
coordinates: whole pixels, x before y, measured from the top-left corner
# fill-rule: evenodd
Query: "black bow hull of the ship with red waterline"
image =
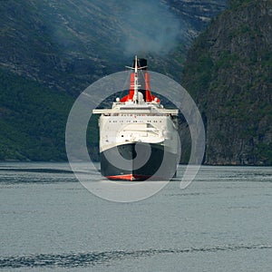
<path fill-rule="evenodd" d="M 151 146 L 151 156 L 147 162 L 139 169 L 135 169 L 135 159 L 137 155 L 141 156 Z M 137 143 L 137 152 L 135 151 L 136 143 L 122 144 L 115 148 L 101 152 L 101 172 L 109 180 L 170 180 L 177 170 L 178 156 L 169 151 L 164 151 L 160 144 Z M 126 160 L 131 160 L 131 164 L 126 170 L 118 168 L 109 162 L 106 158 L 116 157 L 119 151 L 121 156 Z M 143 153 L 142 153 L 143 154 Z M 166 160 L 163 160 L 163 158 Z M 163 163 L 163 165 L 162 165 Z M 160 169 L 160 170 L 159 170 Z M 159 172 L 158 172 L 159 170 Z M 159 173 L 159 175 L 158 175 Z"/>

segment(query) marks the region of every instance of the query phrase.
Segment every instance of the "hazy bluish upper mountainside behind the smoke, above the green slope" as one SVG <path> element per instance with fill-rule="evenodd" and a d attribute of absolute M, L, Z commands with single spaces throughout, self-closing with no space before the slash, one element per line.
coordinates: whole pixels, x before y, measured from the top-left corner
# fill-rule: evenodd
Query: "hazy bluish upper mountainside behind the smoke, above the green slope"
<path fill-rule="evenodd" d="M 75 94 L 139 53 L 180 79 L 182 63 L 168 53 L 184 58 L 191 39 L 226 7 L 206 0 L 189 8 L 194 2 L 2 1 L 0 66 Z M 192 19 L 203 13 L 205 20 Z"/>

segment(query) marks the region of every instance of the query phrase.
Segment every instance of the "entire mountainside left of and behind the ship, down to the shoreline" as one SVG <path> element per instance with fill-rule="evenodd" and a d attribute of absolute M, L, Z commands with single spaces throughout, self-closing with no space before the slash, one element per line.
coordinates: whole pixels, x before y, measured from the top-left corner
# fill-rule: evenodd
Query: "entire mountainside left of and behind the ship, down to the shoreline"
<path fill-rule="evenodd" d="M 225 7 L 214 0 L 1 1 L 0 160 L 65 160 L 65 122 L 80 92 L 122 71 L 135 53 L 180 81 L 191 40 Z"/>

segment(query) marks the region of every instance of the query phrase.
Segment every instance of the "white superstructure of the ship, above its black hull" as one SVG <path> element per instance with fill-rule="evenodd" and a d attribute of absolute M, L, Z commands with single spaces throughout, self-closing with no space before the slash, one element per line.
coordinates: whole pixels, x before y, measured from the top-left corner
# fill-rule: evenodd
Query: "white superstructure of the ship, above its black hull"
<path fill-rule="evenodd" d="M 114 102 L 111 110 L 94 110 L 101 114 L 100 152 L 132 142 L 167 145 L 177 151 L 178 110 L 166 110 L 160 102 Z"/>

